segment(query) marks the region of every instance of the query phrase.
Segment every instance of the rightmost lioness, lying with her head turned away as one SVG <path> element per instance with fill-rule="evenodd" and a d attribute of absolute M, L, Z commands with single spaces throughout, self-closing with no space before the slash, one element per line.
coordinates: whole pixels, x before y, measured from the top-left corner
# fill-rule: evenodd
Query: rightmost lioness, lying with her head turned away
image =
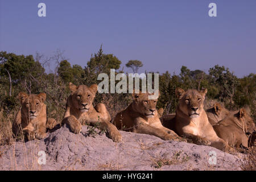
<path fill-rule="evenodd" d="M 228 142 L 232 147 L 248 147 L 248 137 L 255 130 L 253 119 L 245 109 L 231 114 L 229 117 L 213 125 L 218 137 Z"/>

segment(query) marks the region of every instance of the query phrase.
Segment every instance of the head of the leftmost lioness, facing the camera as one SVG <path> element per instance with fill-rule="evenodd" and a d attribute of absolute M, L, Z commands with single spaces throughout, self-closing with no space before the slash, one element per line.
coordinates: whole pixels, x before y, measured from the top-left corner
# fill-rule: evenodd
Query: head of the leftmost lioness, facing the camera
<path fill-rule="evenodd" d="M 27 115 L 27 118 L 35 119 L 42 112 L 44 107 L 44 101 L 46 100 L 46 94 L 40 93 L 38 95 L 20 92 L 19 100 L 22 104 L 22 113 Z"/>

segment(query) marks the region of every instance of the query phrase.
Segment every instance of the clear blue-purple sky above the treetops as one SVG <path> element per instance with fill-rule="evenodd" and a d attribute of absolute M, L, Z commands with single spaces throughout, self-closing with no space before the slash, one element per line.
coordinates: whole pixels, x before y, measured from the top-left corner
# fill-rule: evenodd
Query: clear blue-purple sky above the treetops
<path fill-rule="evenodd" d="M 46 3 L 46 17 L 38 4 Z M 209 17 L 209 3 L 217 17 Z M 84 67 L 103 44 L 124 66 L 139 72 L 205 72 L 224 65 L 242 77 L 256 73 L 255 0 L 0 0 L 0 51 L 51 55 L 64 50 Z M 130 69 L 125 71 L 131 72 Z"/>

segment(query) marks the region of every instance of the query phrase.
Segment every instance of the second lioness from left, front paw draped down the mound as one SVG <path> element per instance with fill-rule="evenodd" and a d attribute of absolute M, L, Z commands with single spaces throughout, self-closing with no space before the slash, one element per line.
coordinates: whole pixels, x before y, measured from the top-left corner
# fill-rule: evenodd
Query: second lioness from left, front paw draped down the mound
<path fill-rule="evenodd" d="M 93 107 L 93 100 L 97 93 L 98 86 L 93 84 L 76 86 L 69 83 L 71 95 L 67 99 L 66 111 L 62 123 L 67 123 L 71 131 L 80 133 L 85 123 L 100 126 L 100 129 L 107 129 L 109 137 L 114 142 L 120 142 L 122 136 L 117 128 L 110 123 L 110 114 L 104 104 L 97 104 Z"/>

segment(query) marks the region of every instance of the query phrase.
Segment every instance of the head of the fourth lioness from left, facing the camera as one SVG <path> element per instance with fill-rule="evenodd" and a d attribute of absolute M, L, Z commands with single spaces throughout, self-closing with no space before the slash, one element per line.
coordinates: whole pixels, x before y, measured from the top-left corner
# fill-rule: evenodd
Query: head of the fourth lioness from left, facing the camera
<path fill-rule="evenodd" d="M 177 88 L 175 90 L 176 96 L 179 98 L 179 110 L 190 118 L 197 118 L 201 111 L 204 110 L 204 99 L 207 89 L 197 91 L 189 89 L 187 91 Z"/>

